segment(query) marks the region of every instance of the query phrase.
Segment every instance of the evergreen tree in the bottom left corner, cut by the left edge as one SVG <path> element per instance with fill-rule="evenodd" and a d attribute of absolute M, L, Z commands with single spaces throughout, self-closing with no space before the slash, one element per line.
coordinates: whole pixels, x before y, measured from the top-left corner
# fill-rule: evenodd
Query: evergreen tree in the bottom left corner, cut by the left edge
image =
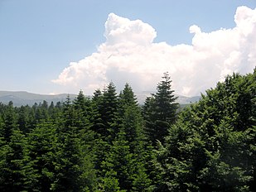
<path fill-rule="evenodd" d="M 7 143 L 1 143 L 0 190 L 24 191 L 33 188 L 34 171 L 27 158 L 27 142 L 20 130 L 12 129 Z"/>

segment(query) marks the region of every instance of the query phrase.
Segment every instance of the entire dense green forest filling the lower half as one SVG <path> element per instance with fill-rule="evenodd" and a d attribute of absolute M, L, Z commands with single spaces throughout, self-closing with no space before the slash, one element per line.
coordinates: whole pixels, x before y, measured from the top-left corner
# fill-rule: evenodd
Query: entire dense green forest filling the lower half
<path fill-rule="evenodd" d="M 156 88 L 0 103 L 0 190 L 256 191 L 256 68 L 182 109 L 168 73 Z"/>

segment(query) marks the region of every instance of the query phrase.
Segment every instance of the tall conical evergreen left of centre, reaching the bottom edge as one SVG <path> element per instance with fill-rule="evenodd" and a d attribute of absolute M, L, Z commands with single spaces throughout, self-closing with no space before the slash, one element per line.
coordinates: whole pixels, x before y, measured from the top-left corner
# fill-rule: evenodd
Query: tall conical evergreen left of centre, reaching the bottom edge
<path fill-rule="evenodd" d="M 57 146 L 57 167 L 52 189 L 56 191 L 94 190 L 94 155 L 88 147 L 88 141 L 82 134 L 81 114 L 75 111 L 68 97 L 60 123 Z M 87 127 L 84 127 L 87 128 Z"/>

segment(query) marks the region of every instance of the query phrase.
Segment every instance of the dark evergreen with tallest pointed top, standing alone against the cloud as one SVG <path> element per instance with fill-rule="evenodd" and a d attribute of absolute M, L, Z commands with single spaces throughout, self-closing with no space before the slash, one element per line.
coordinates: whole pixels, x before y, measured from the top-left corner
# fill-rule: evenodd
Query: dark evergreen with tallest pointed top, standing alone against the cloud
<path fill-rule="evenodd" d="M 144 118 L 146 120 L 146 133 L 153 145 L 157 140 L 164 141 L 167 129 L 176 121 L 176 110 L 179 107 L 176 97 L 171 89 L 171 78 L 165 73 L 162 81 L 157 84 L 157 93 L 147 98 L 144 104 Z"/>

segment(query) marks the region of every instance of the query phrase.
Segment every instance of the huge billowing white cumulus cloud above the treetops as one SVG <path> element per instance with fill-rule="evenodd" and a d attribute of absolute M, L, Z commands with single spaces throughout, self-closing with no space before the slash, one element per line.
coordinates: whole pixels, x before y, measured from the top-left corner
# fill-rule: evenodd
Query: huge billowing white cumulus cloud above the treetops
<path fill-rule="evenodd" d="M 140 20 L 130 21 L 110 13 L 97 52 L 71 62 L 52 80 L 85 89 L 91 94 L 113 81 L 118 89 L 128 82 L 134 91 L 153 90 L 164 72 L 169 72 L 176 94 L 199 95 L 215 87 L 232 72 L 246 74 L 256 66 L 256 9 L 238 7 L 234 28 L 209 33 L 190 27 L 191 45 L 155 43 L 157 32 Z"/>

